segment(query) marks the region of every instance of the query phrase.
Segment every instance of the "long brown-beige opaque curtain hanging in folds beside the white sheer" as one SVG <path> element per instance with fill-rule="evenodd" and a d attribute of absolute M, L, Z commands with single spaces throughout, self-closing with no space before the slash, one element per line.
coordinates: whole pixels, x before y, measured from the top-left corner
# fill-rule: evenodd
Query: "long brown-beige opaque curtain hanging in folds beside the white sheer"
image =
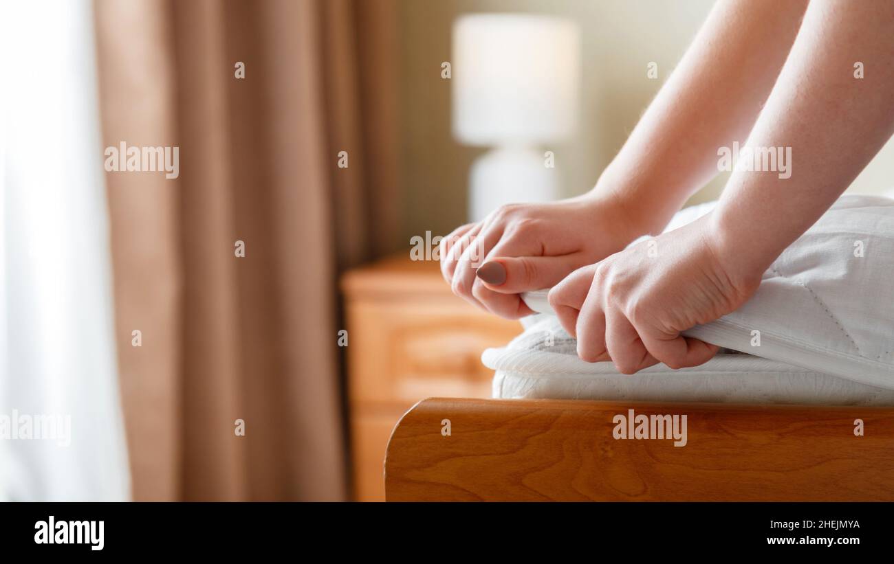
<path fill-rule="evenodd" d="M 392 0 L 95 5 L 104 145 L 180 147 L 106 173 L 134 499 L 345 499 L 336 280 L 396 243 Z"/>

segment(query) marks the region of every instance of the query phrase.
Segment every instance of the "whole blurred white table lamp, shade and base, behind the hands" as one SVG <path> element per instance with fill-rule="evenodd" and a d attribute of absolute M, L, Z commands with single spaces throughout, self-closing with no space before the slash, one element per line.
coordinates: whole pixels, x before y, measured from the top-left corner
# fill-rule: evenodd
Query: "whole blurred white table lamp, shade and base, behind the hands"
<path fill-rule="evenodd" d="M 472 164 L 469 220 L 502 203 L 559 197 L 546 145 L 569 137 L 578 115 L 578 26 L 533 14 L 468 14 L 453 24 L 453 135 L 493 146 Z"/>

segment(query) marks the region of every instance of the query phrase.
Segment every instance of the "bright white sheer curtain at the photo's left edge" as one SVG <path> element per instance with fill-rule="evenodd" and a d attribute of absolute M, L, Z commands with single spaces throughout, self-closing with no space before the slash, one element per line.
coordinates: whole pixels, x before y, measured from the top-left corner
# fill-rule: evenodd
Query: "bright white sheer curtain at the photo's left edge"
<path fill-rule="evenodd" d="M 0 36 L 0 499 L 127 500 L 92 4 L 0 0 Z"/>

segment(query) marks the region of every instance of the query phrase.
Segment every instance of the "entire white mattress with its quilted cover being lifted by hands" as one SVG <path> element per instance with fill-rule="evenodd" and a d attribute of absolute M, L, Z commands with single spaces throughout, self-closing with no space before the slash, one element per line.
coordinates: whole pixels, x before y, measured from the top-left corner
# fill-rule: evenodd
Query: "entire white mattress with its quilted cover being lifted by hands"
<path fill-rule="evenodd" d="M 680 212 L 670 228 L 710 211 Z M 863 254 L 854 253 L 856 241 Z M 577 357 L 545 292 L 508 346 L 485 351 L 498 398 L 894 405 L 894 200 L 842 196 L 738 311 L 686 332 L 725 347 L 692 369 L 635 375 Z M 761 332 L 753 346 L 753 331 Z"/>

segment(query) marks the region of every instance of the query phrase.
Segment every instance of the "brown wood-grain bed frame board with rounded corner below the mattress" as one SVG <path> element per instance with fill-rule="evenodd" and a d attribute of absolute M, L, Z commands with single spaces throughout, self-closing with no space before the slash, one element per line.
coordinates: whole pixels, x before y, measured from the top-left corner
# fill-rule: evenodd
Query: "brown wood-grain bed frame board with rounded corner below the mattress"
<path fill-rule="evenodd" d="M 687 444 L 615 439 L 630 409 L 686 414 Z M 432 398 L 384 467 L 398 502 L 894 501 L 894 408 Z"/>

